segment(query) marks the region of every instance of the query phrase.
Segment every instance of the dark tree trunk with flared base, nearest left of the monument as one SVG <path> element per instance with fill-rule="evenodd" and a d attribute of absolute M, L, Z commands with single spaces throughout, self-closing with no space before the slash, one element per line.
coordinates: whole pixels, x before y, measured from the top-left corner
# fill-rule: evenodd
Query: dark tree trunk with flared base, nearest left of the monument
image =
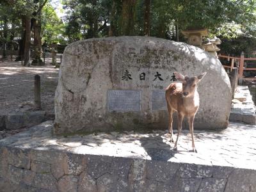
<path fill-rule="evenodd" d="M 37 19 L 33 19 L 34 29 L 34 60 L 33 65 L 43 65 L 41 60 L 42 43 L 41 43 L 41 12 L 38 12 Z"/>

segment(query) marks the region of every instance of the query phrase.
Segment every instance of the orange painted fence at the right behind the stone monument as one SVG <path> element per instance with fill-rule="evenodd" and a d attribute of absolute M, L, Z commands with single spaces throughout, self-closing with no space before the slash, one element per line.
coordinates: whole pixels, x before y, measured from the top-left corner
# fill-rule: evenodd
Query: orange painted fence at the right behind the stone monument
<path fill-rule="evenodd" d="M 231 60 L 231 65 L 230 66 L 223 65 L 224 68 L 230 68 L 231 72 L 234 68 L 239 68 L 239 72 L 238 72 L 239 80 L 243 80 L 243 79 L 256 80 L 256 77 L 249 77 L 249 78 L 243 77 L 244 70 L 256 70 L 256 67 L 255 68 L 246 68 L 246 67 L 244 67 L 244 61 L 256 61 L 256 58 L 244 58 L 244 53 L 243 52 L 241 53 L 241 56 L 239 58 L 232 57 L 232 56 L 225 56 L 225 55 L 221 55 L 221 54 L 219 54 L 218 57 L 219 58 L 225 58 L 228 61 Z M 235 61 L 237 61 L 239 63 L 238 67 L 234 67 Z"/>

